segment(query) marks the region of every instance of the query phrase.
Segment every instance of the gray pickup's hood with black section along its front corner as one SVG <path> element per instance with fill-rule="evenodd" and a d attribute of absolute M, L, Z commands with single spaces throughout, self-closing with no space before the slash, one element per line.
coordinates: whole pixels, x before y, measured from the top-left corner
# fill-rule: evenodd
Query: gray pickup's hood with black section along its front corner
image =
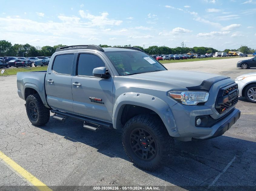
<path fill-rule="evenodd" d="M 148 72 L 142 74 L 135 74 L 129 76 L 123 76 L 125 78 L 136 78 L 140 80 L 148 80 L 172 84 L 174 88 L 179 85 L 180 88 L 187 88 L 191 91 L 209 91 L 212 84 L 227 79 L 227 76 L 221 76 L 217 74 L 203 73 L 203 72 L 190 72 L 184 70 L 165 70 L 158 72 Z"/>

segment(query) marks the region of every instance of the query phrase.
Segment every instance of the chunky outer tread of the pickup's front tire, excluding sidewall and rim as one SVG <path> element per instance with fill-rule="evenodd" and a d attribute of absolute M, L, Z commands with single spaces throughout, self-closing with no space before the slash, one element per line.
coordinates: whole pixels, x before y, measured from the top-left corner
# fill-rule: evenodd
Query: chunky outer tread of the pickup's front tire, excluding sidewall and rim
<path fill-rule="evenodd" d="M 127 156 L 130 158 L 130 160 L 132 162 L 134 162 L 134 161 L 133 161 L 132 157 L 128 154 L 128 152 L 125 148 L 124 142 L 125 142 L 125 131 L 131 125 L 131 123 L 134 123 L 134 122 L 145 123 L 148 127 L 150 127 L 152 129 L 152 131 L 155 133 L 155 135 L 160 137 L 160 139 L 158 141 L 161 142 L 161 145 L 165 145 L 165 146 L 161 147 L 163 149 L 163 154 L 161 155 L 161 161 L 159 161 L 159 163 L 157 165 L 147 166 L 147 167 L 141 166 L 140 164 L 135 164 L 135 165 L 138 167 L 141 167 L 145 170 L 150 170 L 150 171 L 154 171 L 154 170 L 161 168 L 170 159 L 170 157 L 173 154 L 174 138 L 169 135 L 162 120 L 157 116 L 143 114 L 143 115 L 138 115 L 138 116 L 135 116 L 135 117 L 129 119 L 125 123 L 125 126 L 122 130 L 122 144 L 125 149 L 125 153 L 127 154 Z"/>

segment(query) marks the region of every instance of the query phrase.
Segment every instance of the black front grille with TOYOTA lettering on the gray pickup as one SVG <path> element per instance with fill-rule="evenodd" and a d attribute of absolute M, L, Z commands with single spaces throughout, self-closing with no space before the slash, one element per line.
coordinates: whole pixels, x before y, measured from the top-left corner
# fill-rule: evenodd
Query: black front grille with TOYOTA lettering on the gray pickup
<path fill-rule="evenodd" d="M 238 102 L 238 93 L 237 93 L 237 96 L 231 99 L 230 101 L 227 101 L 225 103 L 222 102 L 221 104 L 218 104 L 218 102 L 228 99 L 229 97 L 228 94 L 230 92 L 232 93 L 234 90 L 238 90 L 238 84 L 234 84 L 229 88 L 220 89 L 216 103 L 215 103 L 215 109 L 218 111 L 218 113 L 223 113 L 224 111 L 228 110 Z"/>

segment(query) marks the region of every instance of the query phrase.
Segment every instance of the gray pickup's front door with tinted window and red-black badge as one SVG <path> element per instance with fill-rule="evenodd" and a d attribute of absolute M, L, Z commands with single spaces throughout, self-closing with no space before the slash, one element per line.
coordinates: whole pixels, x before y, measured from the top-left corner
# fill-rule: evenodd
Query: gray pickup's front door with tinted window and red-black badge
<path fill-rule="evenodd" d="M 92 75 L 94 68 L 105 66 L 103 60 L 96 54 L 78 54 L 72 78 L 73 110 L 83 116 L 112 122 L 113 76 L 102 79 Z"/>

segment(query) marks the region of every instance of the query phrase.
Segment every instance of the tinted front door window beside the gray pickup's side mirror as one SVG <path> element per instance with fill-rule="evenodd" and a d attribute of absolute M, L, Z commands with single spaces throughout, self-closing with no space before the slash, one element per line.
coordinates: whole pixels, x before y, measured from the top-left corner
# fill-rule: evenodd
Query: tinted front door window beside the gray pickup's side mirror
<path fill-rule="evenodd" d="M 80 54 L 77 66 L 77 75 L 93 76 L 94 68 L 105 67 L 105 63 L 94 54 Z"/>

